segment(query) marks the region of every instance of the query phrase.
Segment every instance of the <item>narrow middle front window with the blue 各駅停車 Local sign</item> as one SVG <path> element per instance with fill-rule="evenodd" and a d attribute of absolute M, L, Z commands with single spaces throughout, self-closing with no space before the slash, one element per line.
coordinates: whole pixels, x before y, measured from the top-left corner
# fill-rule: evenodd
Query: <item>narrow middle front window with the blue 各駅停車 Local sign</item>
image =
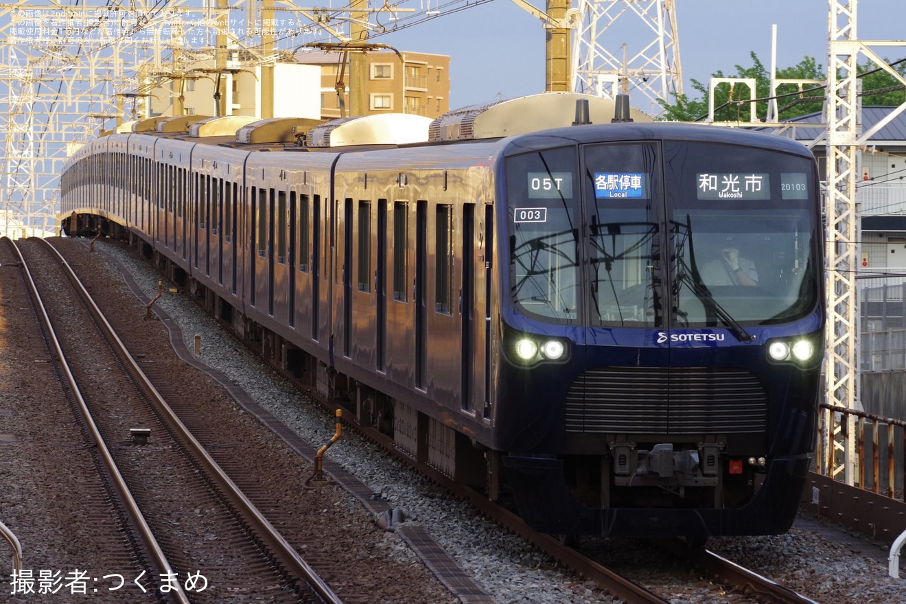
<path fill-rule="evenodd" d="M 589 321 L 659 326 L 660 171 L 650 143 L 584 149 Z"/>

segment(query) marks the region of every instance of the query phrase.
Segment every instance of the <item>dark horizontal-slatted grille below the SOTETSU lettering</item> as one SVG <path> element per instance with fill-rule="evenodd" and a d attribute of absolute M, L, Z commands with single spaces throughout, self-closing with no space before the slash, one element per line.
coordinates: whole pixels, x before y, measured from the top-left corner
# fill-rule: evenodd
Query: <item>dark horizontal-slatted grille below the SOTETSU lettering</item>
<path fill-rule="evenodd" d="M 739 434 L 766 429 L 767 394 L 744 369 L 591 369 L 566 394 L 566 431 Z"/>

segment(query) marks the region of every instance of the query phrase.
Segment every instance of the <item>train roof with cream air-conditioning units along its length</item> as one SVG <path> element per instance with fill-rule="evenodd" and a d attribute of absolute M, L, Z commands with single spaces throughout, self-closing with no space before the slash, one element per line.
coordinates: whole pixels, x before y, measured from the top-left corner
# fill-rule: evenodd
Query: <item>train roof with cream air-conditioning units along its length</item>
<path fill-rule="evenodd" d="M 616 122 L 616 123 L 613 123 Z M 606 125 L 606 129 L 602 126 Z M 506 101 L 470 105 L 435 120 L 400 113 L 375 114 L 338 120 L 249 116 L 157 117 L 135 122 L 132 133 L 163 139 L 253 151 L 367 150 L 419 147 L 505 139 L 505 154 L 516 152 L 509 139 L 522 149 L 549 146 L 551 137 L 571 141 L 701 139 L 787 149 L 803 153 L 801 143 L 769 134 L 714 125 L 655 122 L 628 105 L 573 92 L 545 92 Z M 758 141 L 757 137 L 764 137 Z M 531 142 L 539 137 L 536 143 Z M 756 138 L 753 138 L 756 137 Z M 544 141 L 542 140 L 544 139 Z M 527 147 L 526 147 L 527 146 Z M 807 152 L 807 151 L 805 151 Z"/>

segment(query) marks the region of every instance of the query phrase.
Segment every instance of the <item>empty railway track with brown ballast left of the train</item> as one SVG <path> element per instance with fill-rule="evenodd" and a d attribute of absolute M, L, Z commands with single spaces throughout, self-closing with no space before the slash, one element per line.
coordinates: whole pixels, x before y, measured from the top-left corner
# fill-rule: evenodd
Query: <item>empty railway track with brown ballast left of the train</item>
<path fill-rule="evenodd" d="M 53 247 L 18 247 L 123 522 L 139 536 L 148 564 L 140 589 L 179 602 L 240 593 L 341 602 L 183 427 Z"/>

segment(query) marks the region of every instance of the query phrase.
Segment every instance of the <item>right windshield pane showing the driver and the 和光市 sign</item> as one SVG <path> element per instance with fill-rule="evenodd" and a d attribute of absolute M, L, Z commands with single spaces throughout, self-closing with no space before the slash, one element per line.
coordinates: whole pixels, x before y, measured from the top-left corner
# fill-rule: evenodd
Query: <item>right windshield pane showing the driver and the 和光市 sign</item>
<path fill-rule="evenodd" d="M 665 142 L 664 157 L 673 326 L 760 325 L 812 311 L 812 162 L 701 142 Z"/>

